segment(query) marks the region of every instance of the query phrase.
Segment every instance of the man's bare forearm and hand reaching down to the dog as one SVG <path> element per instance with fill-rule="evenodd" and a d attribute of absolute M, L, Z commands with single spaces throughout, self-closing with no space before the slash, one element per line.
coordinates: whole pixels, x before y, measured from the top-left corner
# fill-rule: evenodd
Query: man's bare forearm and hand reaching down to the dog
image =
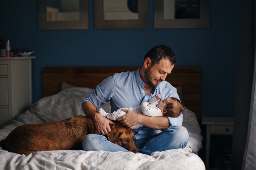
<path fill-rule="evenodd" d="M 99 134 L 106 135 L 111 131 L 109 124 L 114 124 L 114 123 L 111 120 L 99 114 L 93 103 L 83 102 L 82 109 L 85 115 L 93 118 L 95 128 L 97 129 Z"/>

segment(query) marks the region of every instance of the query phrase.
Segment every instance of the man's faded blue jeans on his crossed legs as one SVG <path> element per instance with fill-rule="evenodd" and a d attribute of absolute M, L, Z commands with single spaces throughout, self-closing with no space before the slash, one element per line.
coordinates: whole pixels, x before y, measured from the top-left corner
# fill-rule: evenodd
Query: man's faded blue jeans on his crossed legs
<path fill-rule="evenodd" d="M 151 155 L 154 151 L 165 151 L 169 149 L 179 149 L 187 146 L 188 131 L 183 126 L 170 126 L 161 133 L 147 138 L 135 139 L 134 144 L 139 149 L 140 153 Z M 124 151 L 121 146 L 118 146 L 103 135 L 89 134 L 83 139 L 83 150 L 104 150 L 110 152 Z"/>

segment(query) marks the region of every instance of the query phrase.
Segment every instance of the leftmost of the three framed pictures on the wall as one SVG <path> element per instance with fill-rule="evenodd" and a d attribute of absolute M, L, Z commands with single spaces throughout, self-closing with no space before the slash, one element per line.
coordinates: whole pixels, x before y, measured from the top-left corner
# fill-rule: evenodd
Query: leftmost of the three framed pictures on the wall
<path fill-rule="evenodd" d="M 88 0 L 38 0 L 38 29 L 88 29 Z"/>

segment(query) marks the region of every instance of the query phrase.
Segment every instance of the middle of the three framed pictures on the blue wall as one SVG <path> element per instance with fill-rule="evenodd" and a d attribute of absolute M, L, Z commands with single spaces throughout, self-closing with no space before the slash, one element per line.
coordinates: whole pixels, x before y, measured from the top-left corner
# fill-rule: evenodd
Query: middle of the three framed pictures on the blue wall
<path fill-rule="evenodd" d="M 147 28 L 147 0 L 94 0 L 95 29 Z"/>

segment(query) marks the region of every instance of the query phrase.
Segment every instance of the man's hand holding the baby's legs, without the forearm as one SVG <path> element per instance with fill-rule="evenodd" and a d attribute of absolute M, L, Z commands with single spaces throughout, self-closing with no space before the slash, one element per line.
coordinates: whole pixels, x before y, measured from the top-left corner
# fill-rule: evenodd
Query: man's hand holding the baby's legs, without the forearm
<path fill-rule="evenodd" d="M 117 118 L 117 121 L 119 121 L 123 126 L 131 127 L 139 123 L 138 120 L 141 114 L 137 114 L 131 110 L 126 109 L 122 109 L 122 111 L 126 112 L 126 114 Z"/>

